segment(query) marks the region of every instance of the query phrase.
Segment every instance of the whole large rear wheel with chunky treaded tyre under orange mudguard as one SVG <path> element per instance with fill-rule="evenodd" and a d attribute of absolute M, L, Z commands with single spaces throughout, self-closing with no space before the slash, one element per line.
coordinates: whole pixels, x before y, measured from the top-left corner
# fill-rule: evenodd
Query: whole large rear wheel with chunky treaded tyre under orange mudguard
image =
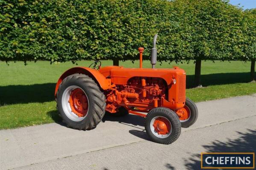
<path fill-rule="evenodd" d="M 59 115 L 68 127 L 93 129 L 105 114 L 105 95 L 94 80 L 84 74 L 66 77 L 56 97 Z"/>

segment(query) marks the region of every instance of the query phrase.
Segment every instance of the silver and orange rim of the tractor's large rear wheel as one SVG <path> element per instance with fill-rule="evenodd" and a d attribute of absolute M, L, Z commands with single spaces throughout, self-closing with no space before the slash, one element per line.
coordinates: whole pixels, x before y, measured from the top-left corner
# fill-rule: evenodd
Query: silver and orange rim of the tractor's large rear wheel
<path fill-rule="evenodd" d="M 69 119 L 80 122 L 88 114 L 88 96 L 82 88 L 71 85 L 63 92 L 62 108 Z"/>

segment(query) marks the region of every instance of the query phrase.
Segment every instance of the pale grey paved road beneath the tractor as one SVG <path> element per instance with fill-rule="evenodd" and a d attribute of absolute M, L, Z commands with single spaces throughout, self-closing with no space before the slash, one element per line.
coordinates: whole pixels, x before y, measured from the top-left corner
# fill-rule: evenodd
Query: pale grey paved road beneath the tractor
<path fill-rule="evenodd" d="M 135 115 L 106 117 L 89 131 L 56 123 L 0 130 L 0 169 L 196 170 L 200 152 L 256 152 L 256 94 L 197 107 L 197 122 L 170 145 L 150 142 Z"/>

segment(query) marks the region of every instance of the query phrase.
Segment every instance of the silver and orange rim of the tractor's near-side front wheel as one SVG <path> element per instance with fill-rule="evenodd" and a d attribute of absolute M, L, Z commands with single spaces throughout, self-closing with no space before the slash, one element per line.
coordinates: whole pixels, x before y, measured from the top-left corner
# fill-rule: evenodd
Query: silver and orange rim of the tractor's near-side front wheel
<path fill-rule="evenodd" d="M 158 138 L 167 138 L 172 133 L 171 122 L 164 116 L 156 116 L 150 121 L 150 130 Z"/>

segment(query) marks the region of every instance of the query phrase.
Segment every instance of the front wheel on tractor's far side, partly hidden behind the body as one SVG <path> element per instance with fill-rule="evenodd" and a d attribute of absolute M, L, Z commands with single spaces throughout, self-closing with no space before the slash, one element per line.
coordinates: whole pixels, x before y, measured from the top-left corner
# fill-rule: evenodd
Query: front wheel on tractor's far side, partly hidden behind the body
<path fill-rule="evenodd" d="M 198 116 L 197 106 L 188 98 L 186 98 L 185 106 L 176 110 L 176 113 L 179 116 L 181 127 L 190 127 L 196 122 Z"/>

